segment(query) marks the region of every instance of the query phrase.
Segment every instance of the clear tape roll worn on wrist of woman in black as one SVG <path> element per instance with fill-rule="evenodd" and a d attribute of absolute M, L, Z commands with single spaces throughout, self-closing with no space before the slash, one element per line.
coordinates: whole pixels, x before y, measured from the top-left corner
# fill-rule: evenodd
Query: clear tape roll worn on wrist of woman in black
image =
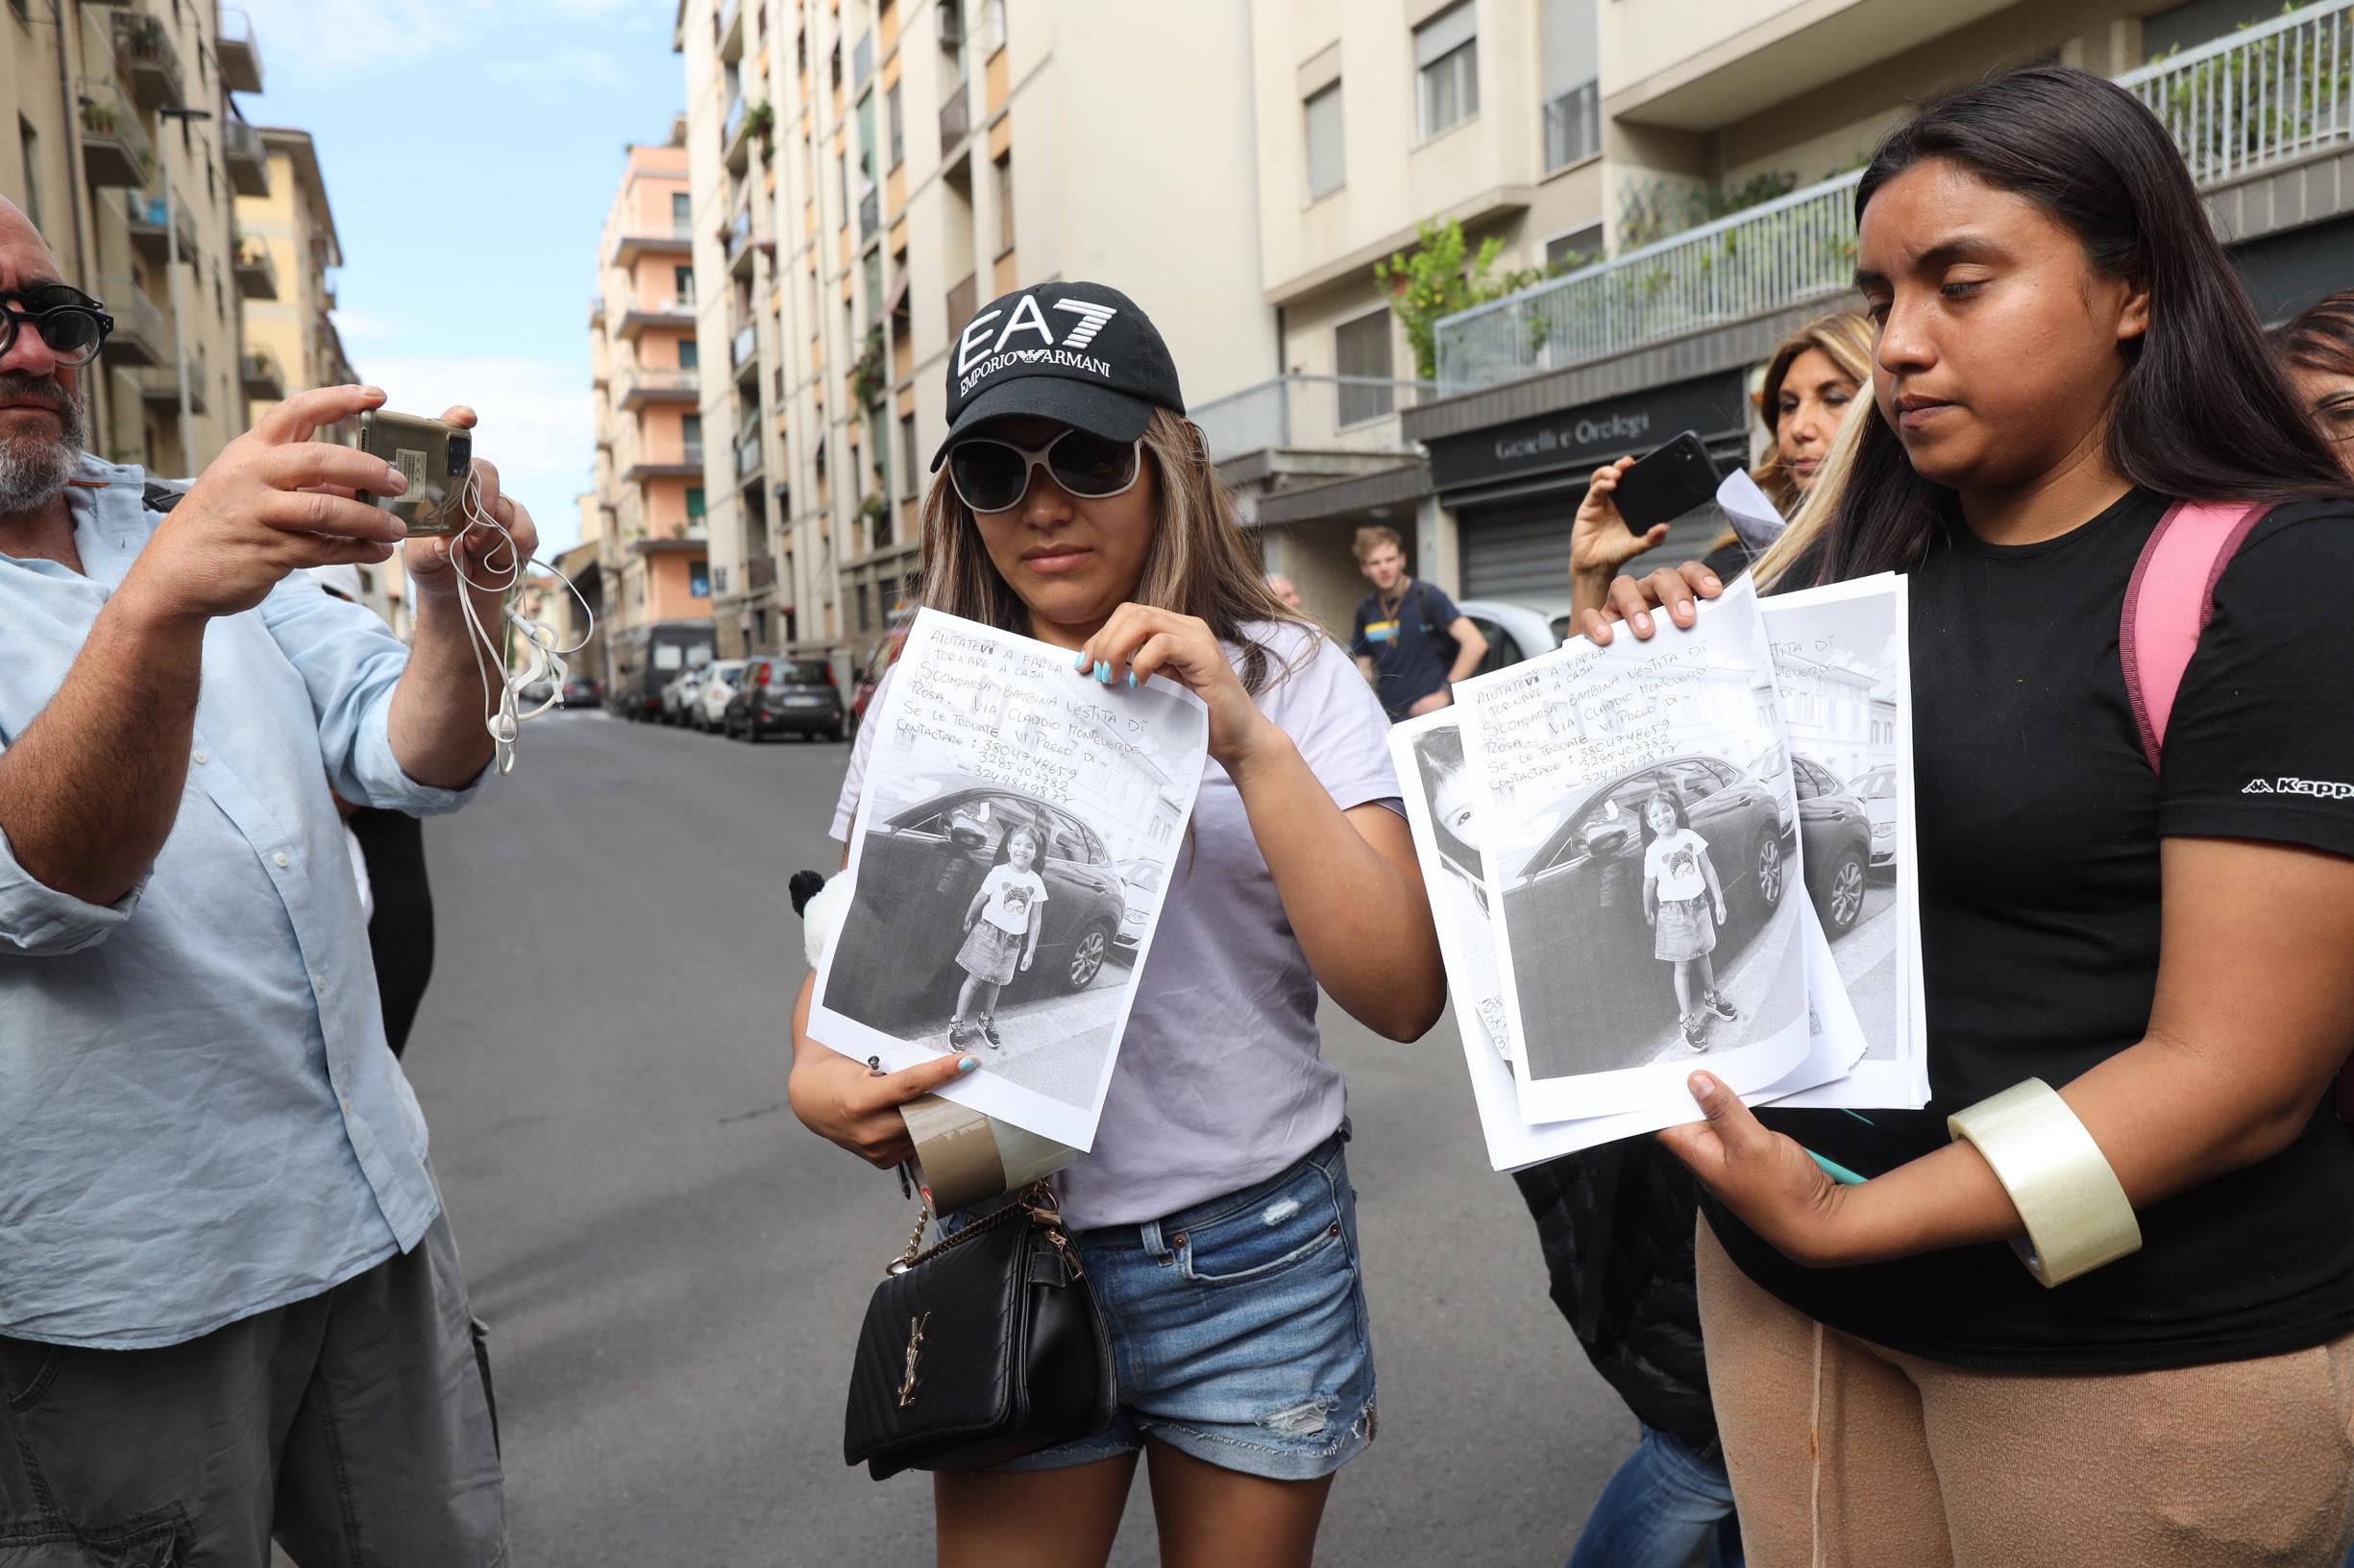
<path fill-rule="evenodd" d="M 2043 1079 L 2022 1079 L 1987 1095 L 1947 1117 L 1944 1126 L 1994 1166 L 1994 1178 L 2027 1225 L 2027 1239 L 2010 1246 L 2043 1286 L 2090 1274 L 2142 1248 L 2142 1222 L 2133 1218 L 2109 1157 Z"/>

